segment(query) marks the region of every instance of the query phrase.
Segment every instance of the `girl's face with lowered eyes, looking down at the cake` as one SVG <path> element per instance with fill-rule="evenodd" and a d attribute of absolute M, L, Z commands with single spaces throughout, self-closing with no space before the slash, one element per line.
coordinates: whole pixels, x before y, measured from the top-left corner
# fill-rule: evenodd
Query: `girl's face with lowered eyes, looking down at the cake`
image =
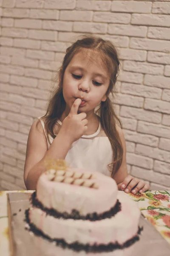
<path fill-rule="evenodd" d="M 82 99 L 79 113 L 94 112 L 101 101 L 106 100 L 110 83 L 108 70 L 99 54 L 81 51 L 74 55 L 63 77 L 63 96 L 66 110 L 70 110 L 77 98 Z"/>

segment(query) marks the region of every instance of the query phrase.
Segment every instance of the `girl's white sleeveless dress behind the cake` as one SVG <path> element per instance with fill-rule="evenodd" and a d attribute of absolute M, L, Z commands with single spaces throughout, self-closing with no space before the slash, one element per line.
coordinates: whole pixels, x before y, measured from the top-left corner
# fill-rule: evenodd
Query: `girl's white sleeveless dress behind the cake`
<path fill-rule="evenodd" d="M 40 119 L 40 117 L 38 118 Z M 45 125 L 42 119 L 40 119 L 42 128 L 45 132 Z M 61 127 L 62 122 L 57 121 Z M 57 134 L 55 134 L 57 136 Z M 47 134 L 45 132 L 47 138 Z M 49 134 L 50 143 L 53 142 L 53 138 Z M 48 149 L 50 143 L 48 142 Z M 99 127 L 94 134 L 83 135 L 79 140 L 75 141 L 68 151 L 65 157 L 66 162 L 72 168 L 88 169 L 91 172 L 100 172 L 104 175 L 111 176 L 113 168 L 113 151 L 111 143 L 106 136 L 105 132 Z M 108 166 L 109 165 L 109 166 Z"/>

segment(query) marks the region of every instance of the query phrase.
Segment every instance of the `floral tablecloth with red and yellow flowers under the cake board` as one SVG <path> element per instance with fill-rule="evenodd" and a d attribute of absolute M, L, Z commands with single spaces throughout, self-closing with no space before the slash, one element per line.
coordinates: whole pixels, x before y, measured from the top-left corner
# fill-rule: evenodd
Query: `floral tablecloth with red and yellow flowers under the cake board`
<path fill-rule="evenodd" d="M 7 193 L 33 191 L 0 191 L 0 255 L 10 256 L 8 236 Z M 124 193 L 124 192 L 121 192 Z M 170 243 L 170 191 L 147 191 L 143 194 L 127 194 L 138 204 L 142 215 Z"/>

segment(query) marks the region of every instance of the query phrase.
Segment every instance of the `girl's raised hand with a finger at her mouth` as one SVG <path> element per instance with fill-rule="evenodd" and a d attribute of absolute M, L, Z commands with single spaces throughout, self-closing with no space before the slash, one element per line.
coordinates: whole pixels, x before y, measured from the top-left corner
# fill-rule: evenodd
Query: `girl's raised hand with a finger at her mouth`
<path fill-rule="evenodd" d="M 62 127 L 59 131 L 59 134 L 66 136 L 68 140 L 70 140 L 71 144 L 81 138 L 88 128 L 88 120 L 85 119 L 87 116 L 86 113 L 77 113 L 81 102 L 81 99 L 75 100 L 71 107 L 70 113 L 63 120 Z"/>

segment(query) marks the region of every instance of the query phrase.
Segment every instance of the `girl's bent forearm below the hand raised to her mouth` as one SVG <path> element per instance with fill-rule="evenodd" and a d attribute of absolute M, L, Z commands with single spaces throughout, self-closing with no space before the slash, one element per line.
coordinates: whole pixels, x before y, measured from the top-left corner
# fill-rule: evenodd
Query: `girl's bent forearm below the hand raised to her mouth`
<path fill-rule="evenodd" d="M 44 165 L 45 159 L 65 159 L 70 147 L 70 140 L 66 136 L 58 134 L 42 160 L 35 164 L 28 172 L 25 180 L 26 188 L 33 190 L 36 188 L 38 178 L 46 170 Z"/>

